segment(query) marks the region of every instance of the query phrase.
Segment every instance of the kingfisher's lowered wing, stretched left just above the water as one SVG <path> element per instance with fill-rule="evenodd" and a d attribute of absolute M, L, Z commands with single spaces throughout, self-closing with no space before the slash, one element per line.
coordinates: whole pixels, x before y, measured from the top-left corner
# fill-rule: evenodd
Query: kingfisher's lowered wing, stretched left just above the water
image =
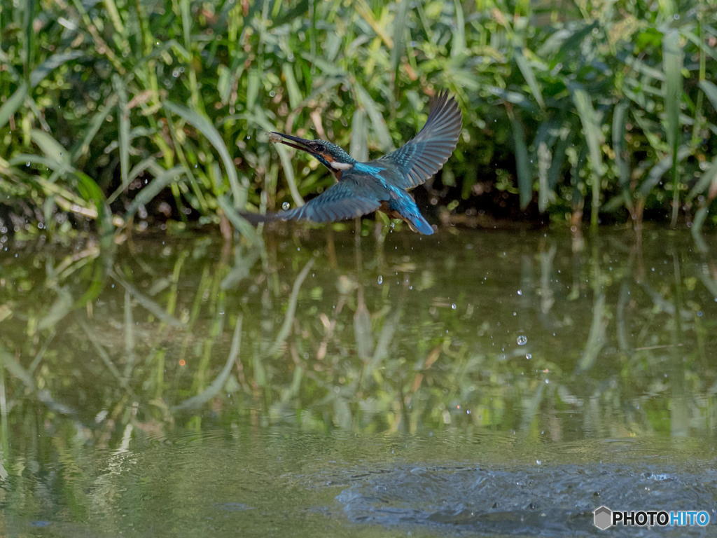
<path fill-rule="evenodd" d="M 338 183 L 331 185 L 317 197 L 296 209 L 288 209 L 270 214 L 242 214 L 250 222 L 270 220 L 311 220 L 313 222 L 334 222 L 352 219 L 371 213 L 381 205 L 381 193 L 376 189 L 375 181 L 367 181 L 361 176 L 343 174 Z"/>

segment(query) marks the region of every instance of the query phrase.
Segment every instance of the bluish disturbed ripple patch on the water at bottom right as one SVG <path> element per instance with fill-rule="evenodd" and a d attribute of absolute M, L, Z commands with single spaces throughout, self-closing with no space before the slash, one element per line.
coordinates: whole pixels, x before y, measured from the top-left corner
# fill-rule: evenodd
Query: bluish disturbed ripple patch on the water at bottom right
<path fill-rule="evenodd" d="M 336 499 L 353 522 L 440 527 L 448 534 L 597 536 L 592 511 L 707 510 L 716 521 L 717 471 L 597 464 L 491 469 L 457 466 L 394 468 L 353 476 Z M 683 527 L 680 536 L 714 532 Z M 614 527 L 611 536 L 642 537 L 655 529 Z M 672 533 L 670 536 L 674 536 Z"/>

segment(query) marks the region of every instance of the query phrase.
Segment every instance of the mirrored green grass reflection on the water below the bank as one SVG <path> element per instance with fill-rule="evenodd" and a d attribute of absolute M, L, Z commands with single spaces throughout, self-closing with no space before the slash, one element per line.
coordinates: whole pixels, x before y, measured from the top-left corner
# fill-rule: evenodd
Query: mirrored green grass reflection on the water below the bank
<path fill-rule="evenodd" d="M 551 240 L 538 253 L 524 239 L 482 240 L 478 261 L 465 250 L 450 263 L 420 253 L 398 263 L 384 253 L 389 266 L 420 267 L 429 277 L 333 269 L 308 255 L 311 248 L 217 257 L 201 241 L 160 256 L 153 243 L 138 243 L 133 258 L 56 263 L 39 255 L 6 266 L 21 284 L 5 303 L 6 432 L 30 402 L 47 420 L 75 417 L 100 445 L 126 427 L 161 431 L 189 420 L 199 428 L 208 408 L 213 421 L 298 420 L 366 432 L 497 428 L 560 439 L 583 430 L 668 433 L 670 424 L 676 435 L 678 419 L 687 425 L 680 435 L 712 427 L 699 419 L 715 380 L 706 337 L 713 306 L 695 302 L 705 296 L 695 286 L 714 282 L 703 264 L 680 265 L 676 256 L 672 270 L 658 274 L 642 272 L 640 250 L 616 258 L 603 244 L 571 259 Z M 480 275 L 506 249 L 505 272 L 488 288 Z M 650 266 L 662 259 L 649 256 Z M 511 282 L 514 257 L 521 296 Z M 460 279 L 452 281 L 446 264 Z M 78 304 L 105 266 L 112 269 L 102 293 Z M 412 291 L 416 278 L 434 284 Z M 445 301 L 468 288 L 455 310 Z M 516 344 L 518 326 L 526 346 Z"/>

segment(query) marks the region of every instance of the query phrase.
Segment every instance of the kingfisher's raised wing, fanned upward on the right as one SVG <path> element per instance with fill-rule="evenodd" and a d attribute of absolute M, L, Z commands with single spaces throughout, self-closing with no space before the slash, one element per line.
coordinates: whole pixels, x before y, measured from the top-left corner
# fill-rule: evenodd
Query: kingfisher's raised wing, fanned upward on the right
<path fill-rule="evenodd" d="M 431 103 L 426 124 L 411 140 L 379 158 L 377 162 L 389 161 L 399 167 L 404 178 L 392 181 L 397 187 L 410 189 L 424 183 L 439 171 L 453 153 L 462 117 L 455 98 L 447 92 L 438 94 Z"/>

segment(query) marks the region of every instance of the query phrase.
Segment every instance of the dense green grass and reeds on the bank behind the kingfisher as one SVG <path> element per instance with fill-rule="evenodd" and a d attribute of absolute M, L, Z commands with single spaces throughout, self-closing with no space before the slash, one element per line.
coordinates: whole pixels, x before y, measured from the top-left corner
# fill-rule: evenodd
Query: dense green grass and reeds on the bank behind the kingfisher
<path fill-rule="evenodd" d="M 0 8 L 0 217 L 13 229 L 242 227 L 236 209 L 301 204 L 332 181 L 266 130 L 365 159 L 412 136 L 440 88 L 465 128 L 417 196 L 443 222 L 684 217 L 698 232 L 717 195 L 714 0 Z"/>

